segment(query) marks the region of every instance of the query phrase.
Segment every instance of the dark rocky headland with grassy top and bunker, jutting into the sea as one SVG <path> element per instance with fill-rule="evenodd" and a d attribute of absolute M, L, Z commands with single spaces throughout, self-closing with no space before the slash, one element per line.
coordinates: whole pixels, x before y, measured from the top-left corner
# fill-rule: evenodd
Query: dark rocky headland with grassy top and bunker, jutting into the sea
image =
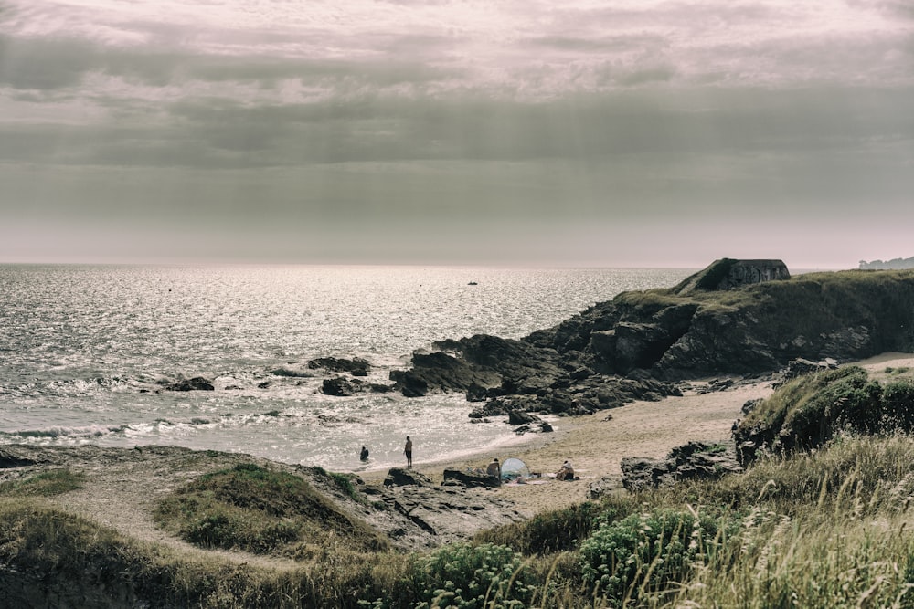
<path fill-rule="evenodd" d="M 914 271 L 792 278 L 780 260 L 724 258 L 675 288 L 624 292 L 520 341 L 438 347 L 392 374 L 404 394 L 466 391 L 490 403 L 514 396 L 528 411 L 592 412 L 675 394 L 670 383 L 684 379 L 914 351 Z"/>

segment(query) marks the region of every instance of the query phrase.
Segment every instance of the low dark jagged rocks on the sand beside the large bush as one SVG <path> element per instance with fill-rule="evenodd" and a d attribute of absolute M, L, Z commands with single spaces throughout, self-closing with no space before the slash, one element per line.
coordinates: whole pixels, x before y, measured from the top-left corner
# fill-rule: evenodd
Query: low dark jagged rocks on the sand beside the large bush
<path fill-rule="evenodd" d="M 677 446 L 664 459 L 626 457 L 620 465 L 622 486 L 630 491 L 672 485 L 679 480 L 716 480 L 742 471 L 731 442 L 690 442 Z"/>

